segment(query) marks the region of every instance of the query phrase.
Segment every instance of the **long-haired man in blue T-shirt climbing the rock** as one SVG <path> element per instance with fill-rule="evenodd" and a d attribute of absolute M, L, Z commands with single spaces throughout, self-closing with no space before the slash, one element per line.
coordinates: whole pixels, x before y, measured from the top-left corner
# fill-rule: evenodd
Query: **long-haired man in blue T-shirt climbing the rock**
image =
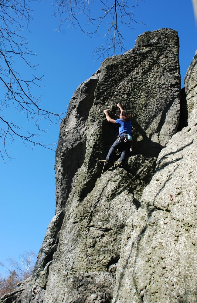
<path fill-rule="evenodd" d="M 99 160 L 100 163 L 105 163 L 106 165 L 110 164 L 110 160 L 113 157 L 113 154 L 117 150 L 117 148 L 121 147 L 121 157 L 120 160 L 116 163 L 116 167 L 121 167 L 130 151 L 131 148 L 131 120 L 130 115 L 127 111 L 124 111 L 121 105 L 118 103 L 117 107 L 120 108 L 121 114 L 120 119 L 114 120 L 110 118 L 107 109 L 104 110 L 106 119 L 108 122 L 119 124 L 119 136 L 114 144 L 111 146 L 106 160 Z"/>

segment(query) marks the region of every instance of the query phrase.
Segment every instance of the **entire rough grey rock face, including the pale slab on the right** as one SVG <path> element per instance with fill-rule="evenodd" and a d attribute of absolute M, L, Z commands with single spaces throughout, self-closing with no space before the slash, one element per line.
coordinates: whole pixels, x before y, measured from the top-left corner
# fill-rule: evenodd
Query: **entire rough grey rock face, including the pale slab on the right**
<path fill-rule="evenodd" d="M 185 82 L 188 127 L 175 134 L 178 48 L 171 29 L 145 32 L 77 88 L 60 125 L 56 213 L 33 278 L 1 302 L 194 302 L 196 59 Z M 117 118 L 117 103 L 131 112 L 133 153 L 100 179 L 97 160 L 117 132 L 103 110 Z"/>

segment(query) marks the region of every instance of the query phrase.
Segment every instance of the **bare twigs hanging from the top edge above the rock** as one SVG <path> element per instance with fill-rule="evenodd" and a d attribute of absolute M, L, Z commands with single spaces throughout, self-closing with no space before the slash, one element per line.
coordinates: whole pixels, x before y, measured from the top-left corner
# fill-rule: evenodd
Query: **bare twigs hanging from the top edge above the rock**
<path fill-rule="evenodd" d="M 138 8 L 138 0 L 55 0 L 53 5 L 55 15 L 60 18 L 60 31 L 65 22 L 74 28 L 78 26 L 87 36 L 100 35 L 101 27 L 107 27 L 105 44 L 95 49 L 103 58 L 125 52 L 121 30 L 123 27 L 134 28 L 133 25 L 138 23 L 133 14 L 133 9 Z M 84 20 L 85 26 L 82 25 Z"/>

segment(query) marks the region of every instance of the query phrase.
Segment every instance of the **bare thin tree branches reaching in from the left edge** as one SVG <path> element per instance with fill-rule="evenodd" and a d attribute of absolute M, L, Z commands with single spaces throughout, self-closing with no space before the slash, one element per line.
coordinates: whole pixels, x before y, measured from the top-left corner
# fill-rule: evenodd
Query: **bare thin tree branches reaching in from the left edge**
<path fill-rule="evenodd" d="M 2 84 L 0 97 L 0 156 L 5 162 L 11 156 L 8 144 L 20 138 L 28 147 L 41 145 L 53 149 L 55 146 L 45 145 L 38 141 L 39 134 L 29 129 L 26 131 L 19 123 L 12 121 L 10 112 L 23 113 L 28 121 L 36 124 L 40 131 L 40 120 L 45 118 L 50 123 L 61 120 L 62 114 L 56 114 L 43 109 L 39 105 L 39 97 L 32 95 L 32 86 L 39 86 L 42 77 L 32 76 L 24 79 L 15 69 L 15 62 L 25 64 L 32 71 L 29 57 L 34 53 L 29 50 L 29 43 L 23 37 L 22 30 L 31 20 L 31 9 L 28 0 L 0 0 L 0 82 Z"/>

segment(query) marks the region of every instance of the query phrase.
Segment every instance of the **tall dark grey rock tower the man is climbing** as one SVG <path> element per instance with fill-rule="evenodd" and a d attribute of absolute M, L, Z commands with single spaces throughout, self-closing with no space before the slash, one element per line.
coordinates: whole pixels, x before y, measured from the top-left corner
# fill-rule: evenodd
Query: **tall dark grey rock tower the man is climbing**
<path fill-rule="evenodd" d="M 147 225 L 154 207 L 141 206 L 141 195 L 153 177 L 158 154 L 178 126 L 178 48 L 176 31 L 146 32 L 132 50 L 107 58 L 77 88 L 60 125 L 56 213 L 38 255 L 30 301 L 19 295 L 10 302 L 109 303 L 115 284 L 115 293 L 124 292 L 124 286 L 118 284 L 121 271 L 127 268 L 118 262 L 121 241 L 127 235 L 124 251 L 130 241 L 131 218 L 136 220 L 131 225 L 137 242 L 141 227 Z M 117 103 L 131 112 L 133 154 L 124 168 L 104 169 L 100 179 L 102 166 L 97 161 L 105 159 L 117 132 L 116 125 L 107 123 L 103 110 L 108 108 L 116 118 Z M 144 215 L 138 218 L 141 212 Z M 128 259 L 127 252 L 122 258 Z M 132 287 L 130 293 L 135 290 Z"/>

